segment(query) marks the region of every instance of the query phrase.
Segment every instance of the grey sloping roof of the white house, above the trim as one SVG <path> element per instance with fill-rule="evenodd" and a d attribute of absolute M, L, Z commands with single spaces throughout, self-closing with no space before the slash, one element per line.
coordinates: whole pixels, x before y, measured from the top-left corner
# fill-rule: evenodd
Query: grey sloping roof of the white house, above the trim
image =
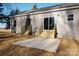
<path fill-rule="evenodd" d="M 74 6 L 79 6 L 79 3 L 63 3 L 63 4 L 54 5 L 54 6 L 38 8 L 36 10 L 26 10 L 26 11 L 22 11 L 18 14 L 41 12 L 41 11 L 47 11 L 47 10 L 58 9 L 58 8 L 74 7 Z"/>

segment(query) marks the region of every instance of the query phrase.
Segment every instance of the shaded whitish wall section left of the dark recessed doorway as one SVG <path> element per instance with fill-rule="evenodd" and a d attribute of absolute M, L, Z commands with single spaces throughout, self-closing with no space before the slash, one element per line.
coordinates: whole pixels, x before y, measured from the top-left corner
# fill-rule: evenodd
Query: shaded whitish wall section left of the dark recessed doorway
<path fill-rule="evenodd" d="M 11 28 L 11 33 L 14 32 L 14 30 L 16 30 L 16 33 L 18 34 L 22 34 L 23 31 L 26 30 L 26 28 L 24 27 L 26 24 L 26 16 L 22 16 L 22 17 L 15 17 L 14 19 L 11 18 L 11 23 L 10 23 L 10 28 Z M 14 29 L 14 20 L 16 20 L 16 28 Z"/>

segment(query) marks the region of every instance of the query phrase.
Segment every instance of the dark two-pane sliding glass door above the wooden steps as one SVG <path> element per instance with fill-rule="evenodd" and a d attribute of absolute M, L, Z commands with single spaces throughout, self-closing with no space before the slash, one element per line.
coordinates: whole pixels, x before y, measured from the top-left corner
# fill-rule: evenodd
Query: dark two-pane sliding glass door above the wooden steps
<path fill-rule="evenodd" d="M 45 30 L 54 29 L 54 17 L 44 18 L 44 29 Z"/>

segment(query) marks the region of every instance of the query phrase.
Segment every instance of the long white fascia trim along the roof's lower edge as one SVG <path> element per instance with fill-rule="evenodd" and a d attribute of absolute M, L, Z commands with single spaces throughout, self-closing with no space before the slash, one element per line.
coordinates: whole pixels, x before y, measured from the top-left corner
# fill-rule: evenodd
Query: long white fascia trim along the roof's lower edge
<path fill-rule="evenodd" d="M 40 12 L 33 12 L 33 13 L 29 13 L 30 15 L 34 15 L 34 14 L 41 14 L 41 13 L 50 13 L 50 12 L 57 12 L 57 11 L 64 11 L 64 10 L 67 10 L 67 9 L 75 9 L 75 8 L 79 8 L 79 6 L 75 6 L 75 7 L 67 7 L 67 8 L 57 8 L 57 9 L 53 9 L 52 10 L 48 10 L 48 11 L 40 11 Z M 22 13 L 23 14 L 23 13 Z M 27 16 L 27 13 L 26 14 L 19 14 L 19 15 L 15 15 L 13 17 L 21 17 L 21 16 Z"/>

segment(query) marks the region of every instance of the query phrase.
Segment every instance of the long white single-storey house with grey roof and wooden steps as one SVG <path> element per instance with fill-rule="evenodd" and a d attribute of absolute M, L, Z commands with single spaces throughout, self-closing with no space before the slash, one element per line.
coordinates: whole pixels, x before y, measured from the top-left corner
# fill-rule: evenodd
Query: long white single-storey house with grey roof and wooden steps
<path fill-rule="evenodd" d="M 10 28 L 11 33 L 78 39 L 79 4 L 65 3 L 20 12 L 11 17 Z"/>

